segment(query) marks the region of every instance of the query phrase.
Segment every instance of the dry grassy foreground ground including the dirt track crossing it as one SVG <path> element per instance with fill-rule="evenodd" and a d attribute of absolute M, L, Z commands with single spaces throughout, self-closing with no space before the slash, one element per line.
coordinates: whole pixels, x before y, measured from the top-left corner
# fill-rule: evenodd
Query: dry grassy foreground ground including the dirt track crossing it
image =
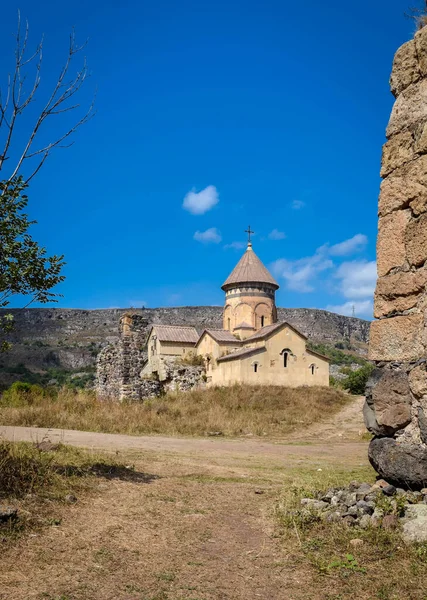
<path fill-rule="evenodd" d="M 357 431 L 360 400 L 348 402 L 334 419 Z M 301 422 L 271 440 L 52 430 L 53 441 L 92 449 L 9 445 L 19 468 L 28 472 L 29 460 L 34 472 L 41 461 L 46 477 L 2 492 L 24 527 L 0 534 L 0 599 L 426 600 L 426 546 L 405 546 L 399 532 L 289 518 L 301 496 L 375 478 L 360 437 L 333 440 L 322 422 L 305 437 Z M 68 493 L 77 502 L 65 502 Z"/>

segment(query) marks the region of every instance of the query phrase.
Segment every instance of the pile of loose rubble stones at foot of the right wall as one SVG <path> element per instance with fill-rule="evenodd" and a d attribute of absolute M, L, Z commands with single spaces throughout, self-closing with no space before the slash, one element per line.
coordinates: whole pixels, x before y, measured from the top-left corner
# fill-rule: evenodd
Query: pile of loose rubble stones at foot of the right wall
<path fill-rule="evenodd" d="M 427 542 L 427 488 L 413 492 L 383 479 L 373 485 L 353 481 L 347 487 L 319 492 L 315 498 L 302 498 L 297 514 L 361 529 L 401 528 L 406 542 Z"/>

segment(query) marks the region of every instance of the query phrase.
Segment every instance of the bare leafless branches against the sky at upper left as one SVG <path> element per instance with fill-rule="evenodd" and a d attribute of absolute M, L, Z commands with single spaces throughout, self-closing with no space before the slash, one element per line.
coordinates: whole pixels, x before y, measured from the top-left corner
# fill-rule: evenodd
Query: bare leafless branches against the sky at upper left
<path fill-rule="evenodd" d="M 86 46 L 87 41 L 82 45 L 77 45 L 75 40 L 75 32 L 71 31 L 68 52 L 64 65 L 62 66 L 58 78 L 53 85 L 52 91 L 48 96 L 43 108 L 41 108 L 38 116 L 35 119 L 33 127 L 28 131 L 27 139 L 22 145 L 22 149 L 16 147 L 16 131 L 17 123 L 20 122 L 20 117 L 28 106 L 36 101 L 39 97 L 39 89 L 41 82 L 41 70 L 43 64 L 43 38 L 36 46 L 35 51 L 27 57 L 27 48 L 29 43 L 29 25 L 25 24 L 25 30 L 21 25 L 21 15 L 18 11 L 18 28 L 15 35 L 15 64 L 14 70 L 8 76 L 6 93 L 3 96 L 0 89 L 0 179 L 3 181 L 11 181 L 14 177 L 21 174 L 21 170 L 31 159 L 36 156 L 41 156 L 41 160 L 37 164 L 32 164 L 28 174 L 25 175 L 24 181 L 28 183 L 41 169 L 42 165 L 48 158 L 54 148 L 65 148 L 71 144 L 62 144 L 62 142 L 72 135 L 79 127 L 87 123 L 94 116 L 94 101 L 92 101 L 86 113 L 78 119 L 74 125 L 68 128 L 67 131 L 60 134 L 56 139 L 45 144 L 43 147 L 33 150 L 33 146 L 38 139 L 38 134 L 44 123 L 53 115 L 61 115 L 70 113 L 80 108 L 79 103 L 70 104 L 69 101 L 78 94 L 89 77 L 89 72 L 86 64 L 86 59 L 83 60 L 83 65 L 77 70 L 76 74 L 68 77 L 71 71 L 71 65 L 76 55 L 79 54 Z M 27 71 L 32 70 L 31 76 L 32 85 L 26 92 Z M 1 135 L 3 133 L 3 135 Z M 21 138 L 21 135 L 19 136 Z M 8 174 L 5 177 L 1 176 L 2 170 L 5 168 L 6 161 L 12 157 L 14 164 L 8 165 Z M 6 186 L 7 187 L 7 186 Z M 2 194 L 4 193 L 3 188 Z"/>

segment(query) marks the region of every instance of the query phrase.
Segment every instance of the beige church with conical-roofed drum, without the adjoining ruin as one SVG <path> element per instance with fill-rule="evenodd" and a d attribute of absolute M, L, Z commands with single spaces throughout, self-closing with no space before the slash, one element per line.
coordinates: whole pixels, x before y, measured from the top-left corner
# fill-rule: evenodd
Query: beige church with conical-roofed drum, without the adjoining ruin
<path fill-rule="evenodd" d="M 167 377 L 170 360 L 200 357 L 206 385 L 235 383 L 328 386 L 329 359 L 307 348 L 307 338 L 289 323 L 277 322 L 279 289 L 249 241 L 222 285 L 225 306 L 222 329 L 152 325 L 142 376 Z"/>

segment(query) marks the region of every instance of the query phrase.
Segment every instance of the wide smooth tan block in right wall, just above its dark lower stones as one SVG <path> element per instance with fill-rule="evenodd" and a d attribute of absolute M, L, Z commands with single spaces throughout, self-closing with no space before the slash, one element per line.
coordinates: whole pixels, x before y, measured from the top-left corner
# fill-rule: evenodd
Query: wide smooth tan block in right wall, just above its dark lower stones
<path fill-rule="evenodd" d="M 414 313 L 371 323 L 369 358 L 377 361 L 415 361 L 424 357 L 424 317 Z"/>

